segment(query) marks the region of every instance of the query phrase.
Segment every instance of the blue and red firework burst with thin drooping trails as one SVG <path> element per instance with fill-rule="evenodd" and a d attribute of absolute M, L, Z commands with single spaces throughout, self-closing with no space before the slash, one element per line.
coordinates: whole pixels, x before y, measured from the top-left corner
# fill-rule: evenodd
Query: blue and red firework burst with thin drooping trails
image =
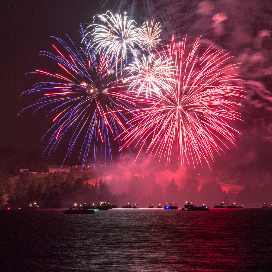
<path fill-rule="evenodd" d="M 65 53 L 61 53 L 55 45 L 53 47 L 57 51 L 56 56 L 47 52 L 42 53 L 57 60 L 63 73 L 37 70 L 37 73 L 53 78 L 53 82 L 39 83 L 27 92 L 44 93 L 44 98 L 34 104 L 37 106 L 36 110 L 53 105 L 47 116 L 54 114 L 55 124 L 47 131 L 52 136 L 46 150 L 49 152 L 55 150 L 59 142 L 68 136 L 70 137 L 66 155 L 68 156 L 75 143 L 79 138 L 82 141 L 83 137 L 81 147 L 83 164 L 86 163 L 93 146 L 95 158 L 101 147 L 101 154 L 108 153 L 112 163 L 111 138 L 125 129 L 124 124 L 128 120 L 122 114 L 122 110 L 132 105 L 129 97 L 121 90 L 124 87 L 119 87 L 118 80 L 110 73 L 110 70 L 115 69 L 115 64 L 108 66 L 104 52 L 100 57 L 95 57 L 94 52 L 88 49 L 86 40 L 84 40 L 86 48 L 77 50 L 73 43 L 73 47 L 70 48 L 62 40 L 56 39 L 64 47 Z M 120 141 L 118 144 L 121 147 Z"/>

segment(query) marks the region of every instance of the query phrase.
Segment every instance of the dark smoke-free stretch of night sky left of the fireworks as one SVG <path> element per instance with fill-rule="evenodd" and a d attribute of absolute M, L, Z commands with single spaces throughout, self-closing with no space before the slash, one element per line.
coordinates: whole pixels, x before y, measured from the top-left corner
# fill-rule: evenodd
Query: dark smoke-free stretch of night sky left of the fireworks
<path fill-rule="evenodd" d="M 54 37 L 80 40 L 80 23 L 92 22 L 99 12 L 97 0 L 17 1 L 4 0 L 1 5 L 1 99 L 0 147 L 14 146 L 22 150 L 38 148 L 50 122 L 33 110 L 18 113 L 35 102 L 35 97 L 20 94 L 31 89 L 38 79 L 36 69 L 48 67 L 52 61 L 39 56 L 51 51 Z"/>

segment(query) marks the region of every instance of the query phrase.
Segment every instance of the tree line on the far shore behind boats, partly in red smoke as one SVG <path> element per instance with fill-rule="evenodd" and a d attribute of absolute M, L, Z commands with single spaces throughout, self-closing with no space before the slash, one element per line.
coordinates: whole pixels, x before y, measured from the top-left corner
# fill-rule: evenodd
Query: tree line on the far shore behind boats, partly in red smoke
<path fill-rule="evenodd" d="M 44 209 L 69 208 L 74 203 L 99 202 L 109 202 L 119 208 L 127 203 L 137 203 L 144 208 L 149 204 L 156 207 L 166 202 L 178 203 L 181 208 L 186 201 L 210 207 L 221 202 L 225 202 L 225 206 L 238 202 L 245 207 L 261 207 L 264 202 L 272 204 L 270 178 L 264 180 L 261 186 L 251 180 L 238 194 L 222 192 L 221 185 L 212 179 L 204 182 L 199 189 L 199 181 L 193 175 L 183 177 L 182 184 L 184 186 L 180 188 L 173 178 L 161 184 L 157 183 L 152 173 L 143 178 L 134 176 L 130 180 L 100 179 L 99 182 L 90 184 L 86 173 L 77 179 L 73 174 L 57 173 L 38 178 L 27 170 L 20 173 L 15 183 L 11 183 L 9 177 L 0 172 L 0 195 L 8 194 L 8 203 L 13 208 L 29 206 L 34 202 Z M 2 203 L 3 201 L 2 198 Z"/>

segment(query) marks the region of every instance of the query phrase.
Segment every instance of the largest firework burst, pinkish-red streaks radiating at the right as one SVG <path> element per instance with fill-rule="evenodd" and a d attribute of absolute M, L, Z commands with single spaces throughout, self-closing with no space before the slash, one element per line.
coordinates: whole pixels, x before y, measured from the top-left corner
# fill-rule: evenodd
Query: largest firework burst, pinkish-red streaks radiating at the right
<path fill-rule="evenodd" d="M 165 78 L 171 88 L 162 89 L 162 96 L 139 97 L 137 90 L 131 94 L 134 103 L 142 108 L 131 111 L 134 115 L 131 129 L 122 134 L 123 138 L 119 135 L 126 141 L 123 147 L 136 141 L 142 149 L 146 144 L 146 152 L 154 153 L 160 160 L 166 159 L 169 164 L 176 146 L 181 164 L 187 161 L 195 166 L 202 165 L 202 160 L 209 165 L 213 151 L 219 153 L 220 146 L 226 146 L 224 139 L 234 144 L 233 133 L 239 132 L 227 121 L 239 120 L 236 107 L 241 104 L 229 99 L 243 95 L 230 81 L 241 79 L 226 74 L 236 66 L 224 66 L 230 57 L 222 50 L 216 51 L 211 46 L 198 57 L 198 41 L 186 53 L 186 39 L 175 49 L 172 38 L 163 51 L 164 57 L 175 63 L 176 71 L 173 80 Z"/>

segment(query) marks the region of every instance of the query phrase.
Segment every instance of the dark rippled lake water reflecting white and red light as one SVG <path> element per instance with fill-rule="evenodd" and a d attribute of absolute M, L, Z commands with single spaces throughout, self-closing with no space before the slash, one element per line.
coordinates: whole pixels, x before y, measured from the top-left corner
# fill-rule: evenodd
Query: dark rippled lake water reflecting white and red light
<path fill-rule="evenodd" d="M 1 211 L 0 270 L 272 271 L 272 209 L 63 211 Z"/>

